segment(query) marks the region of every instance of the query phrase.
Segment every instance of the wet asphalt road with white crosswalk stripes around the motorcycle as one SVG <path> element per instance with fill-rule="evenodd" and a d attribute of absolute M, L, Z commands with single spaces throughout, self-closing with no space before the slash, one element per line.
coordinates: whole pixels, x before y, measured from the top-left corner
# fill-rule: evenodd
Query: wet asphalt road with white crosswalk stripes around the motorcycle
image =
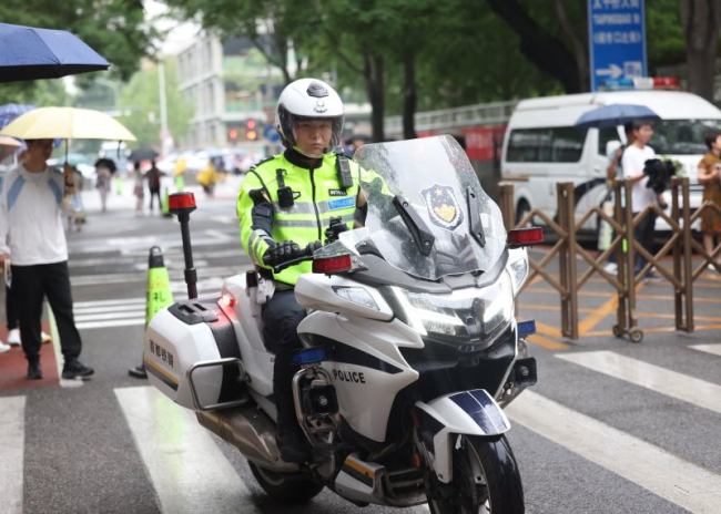
<path fill-rule="evenodd" d="M 199 195 L 192 215 L 201 292 L 216 290 L 221 277 L 248 266 L 234 220 L 234 187 L 220 188 L 214 199 Z M 179 444 L 183 436 L 196 436 L 194 421 L 155 398 L 126 369 L 140 362 L 143 327 L 138 319 L 151 245 L 163 248 L 175 297 L 184 297 L 180 232 L 174 219 L 136 217 L 129 202 L 129 196 L 115 197 L 111 212 L 101 214 L 89 197 L 89 223 L 69 236 L 75 315 L 84 323 L 83 359 L 97 370 L 93 380 L 81 387 L 0 390 L 0 430 L 23 448 L 0 450 L 0 456 L 14 455 L 0 463 L 0 476 L 19 477 L 3 489 L 16 491 L 10 508 L 20 502 L 21 511 L 8 512 L 179 512 L 169 506 L 173 494 L 192 496 L 185 512 L 398 512 L 360 511 L 327 491 L 302 507 L 280 506 L 256 485 L 244 459 L 214 436 L 203 436 L 203 444 L 213 444 L 205 454 L 216 455 L 214 462 L 184 453 L 163 467 L 167 461 L 161 456 L 192 452 Z M 702 328 L 691 335 L 668 329 L 673 325 L 662 316 L 673 313 L 668 288 L 648 285 L 642 292 L 649 298 L 639 310 L 651 315 L 641 317 L 650 330 L 640 345 L 609 336 L 612 310 L 607 312 L 610 296 L 601 296 L 605 290 L 591 284 L 587 291 L 592 294 L 581 296 L 587 336 L 577 342 L 557 333 L 558 297 L 544 284 L 521 297 L 521 317 L 535 317 L 541 326 L 531 345 L 539 383 L 509 411 L 514 428 L 508 438 L 521 470 L 527 512 L 718 512 L 721 281 L 710 276 L 699 284 L 700 297 L 707 299 L 697 309 Z M 93 311 L 93 305 L 108 308 Z M 150 401 L 145 405 L 141 399 Z M 133 410 L 139 405 L 145 410 Z M 14 424 L 12 412 L 20 412 Z M 163 430 L 148 432 L 153 426 Z M 217 470 L 225 470 L 224 475 L 216 476 Z"/>

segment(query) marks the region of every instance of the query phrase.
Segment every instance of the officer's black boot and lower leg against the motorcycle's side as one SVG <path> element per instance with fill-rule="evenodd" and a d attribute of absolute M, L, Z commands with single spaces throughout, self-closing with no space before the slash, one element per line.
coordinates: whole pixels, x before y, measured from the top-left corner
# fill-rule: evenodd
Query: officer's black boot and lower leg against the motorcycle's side
<path fill-rule="evenodd" d="M 306 462 L 311 459 L 308 440 L 295 417 L 291 386 L 297 366 L 291 363 L 293 353 L 278 352 L 273 366 L 273 393 L 277 410 L 277 443 L 285 462 Z"/>

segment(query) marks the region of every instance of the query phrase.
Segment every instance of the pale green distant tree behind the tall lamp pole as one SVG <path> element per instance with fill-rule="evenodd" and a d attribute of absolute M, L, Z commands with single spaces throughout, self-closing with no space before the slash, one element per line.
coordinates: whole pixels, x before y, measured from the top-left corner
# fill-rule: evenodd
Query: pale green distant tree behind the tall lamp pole
<path fill-rule="evenodd" d="M 181 95 L 175 60 L 164 62 L 167 127 L 173 138 L 179 141 L 187 132 L 193 109 Z M 119 121 L 138 138 L 131 146 L 160 148 L 160 88 L 156 65 L 150 65 L 132 76 L 121 92 L 119 107 L 123 114 Z"/>

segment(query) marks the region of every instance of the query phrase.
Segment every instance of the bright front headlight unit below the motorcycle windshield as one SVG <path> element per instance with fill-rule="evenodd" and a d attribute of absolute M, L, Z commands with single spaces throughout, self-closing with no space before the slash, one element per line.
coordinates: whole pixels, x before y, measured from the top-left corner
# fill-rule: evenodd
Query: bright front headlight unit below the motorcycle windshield
<path fill-rule="evenodd" d="M 392 288 L 403 308 L 404 321 L 422 336 L 451 340 L 486 337 L 512 315 L 514 297 L 508 273 L 484 288 L 458 289 L 447 295 L 409 292 Z"/>

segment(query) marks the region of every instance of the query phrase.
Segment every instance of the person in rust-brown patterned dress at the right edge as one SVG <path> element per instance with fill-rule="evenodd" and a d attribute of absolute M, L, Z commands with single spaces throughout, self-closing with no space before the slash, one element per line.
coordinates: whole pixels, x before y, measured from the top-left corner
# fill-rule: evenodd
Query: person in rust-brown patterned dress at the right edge
<path fill-rule="evenodd" d="M 721 207 L 721 132 L 707 134 L 704 140 L 709 153 L 699 163 L 699 184 L 703 184 L 703 202 L 712 202 Z M 713 249 L 721 243 L 721 214 L 712 207 L 707 207 L 701 213 L 701 233 L 703 249 L 713 255 Z M 714 267 L 721 273 L 721 265 Z"/>

